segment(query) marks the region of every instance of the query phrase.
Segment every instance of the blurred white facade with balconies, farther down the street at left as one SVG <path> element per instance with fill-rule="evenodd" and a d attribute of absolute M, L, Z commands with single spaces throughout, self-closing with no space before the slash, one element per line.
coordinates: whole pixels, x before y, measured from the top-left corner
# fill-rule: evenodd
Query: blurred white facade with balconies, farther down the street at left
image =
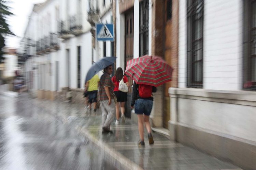
<path fill-rule="evenodd" d="M 103 50 L 103 43 L 93 39 L 89 5 L 87 0 L 46 0 L 34 5 L 21 45 L 34 96 L 45 98 L 45 91 L 56 96 L 56 91 L 67 87 L 82 92 L 93 61 L 103 57 L 103 51 L 110 56 L 110 43 Z M 99 21 L 111 23 L 110 7 L 110 0 L 98 4 L 104 14 Z"/>

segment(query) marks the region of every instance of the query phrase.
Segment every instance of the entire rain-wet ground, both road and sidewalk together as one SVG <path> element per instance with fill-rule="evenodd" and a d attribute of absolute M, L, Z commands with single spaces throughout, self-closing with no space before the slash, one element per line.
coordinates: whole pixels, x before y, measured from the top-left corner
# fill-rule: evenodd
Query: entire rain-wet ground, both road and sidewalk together
<path fill-rule="evenodd" d="M 0 95 L 0 169 L 239 169 L 153 133 L 137 146 L 138 126 L 101 133 L 101 112 L 81 104 Z M 146 134 L 145 134 L 146 135 Z"/>

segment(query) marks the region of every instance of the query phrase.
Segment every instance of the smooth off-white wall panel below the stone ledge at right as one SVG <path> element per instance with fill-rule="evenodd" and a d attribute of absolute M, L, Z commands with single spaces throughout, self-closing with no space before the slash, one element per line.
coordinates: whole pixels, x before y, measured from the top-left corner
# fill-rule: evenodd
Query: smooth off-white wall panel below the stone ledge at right
<path fill-rule="evenodd" d="M 178 108 L 178 120 L 186 127 L 256 142 L 255 106 L 179 98 Z"/>

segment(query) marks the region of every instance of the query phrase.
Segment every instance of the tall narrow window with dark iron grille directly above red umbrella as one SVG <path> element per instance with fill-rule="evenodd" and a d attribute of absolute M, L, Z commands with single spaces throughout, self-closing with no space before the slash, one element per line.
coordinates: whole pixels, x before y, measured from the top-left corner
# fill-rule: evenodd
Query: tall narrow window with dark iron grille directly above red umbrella
<path fill-rule="evenodd" d="M 148 6 L 148 0 L 140 2 L 140 56 L 148 54 Z"/>

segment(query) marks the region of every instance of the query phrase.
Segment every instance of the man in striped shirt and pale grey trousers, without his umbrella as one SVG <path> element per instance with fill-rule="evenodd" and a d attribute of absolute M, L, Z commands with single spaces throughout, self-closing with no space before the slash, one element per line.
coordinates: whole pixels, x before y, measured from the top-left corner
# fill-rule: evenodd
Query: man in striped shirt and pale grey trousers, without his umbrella
<path fill-rule="evenodd" d="M 110 75 L 113 72 L 112 65 L 104 68 L 104 73 L 99 82 L 99 100 L 102 111 L 102 132 L 112 132 L 110 124 L 115 118 L 115 101 L 113 95 L 114 84 Z"/>

